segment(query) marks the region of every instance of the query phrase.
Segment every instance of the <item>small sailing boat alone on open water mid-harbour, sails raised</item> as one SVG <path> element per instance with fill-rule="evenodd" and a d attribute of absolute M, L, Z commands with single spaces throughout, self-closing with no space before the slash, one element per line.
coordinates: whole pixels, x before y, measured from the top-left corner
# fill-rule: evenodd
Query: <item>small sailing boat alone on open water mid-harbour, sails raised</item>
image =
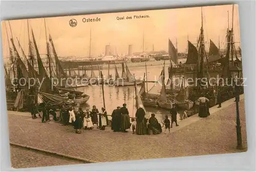
<path fill-rule="evenodd" d="M 126 72 L 125 72 L 126 70 Z M 131 74 L 129 68 L 125 64 L 125 69 L 124 69 L 124 62 L 122 63 L 122 77 L 117 78 L 115 81 L 116 86 L 130 86 L 134 85 L 134 82 L 136 82 L 137 85 L 140 85 L 142 81 L 137 80 L 134 78 L 134 76 Z"/>

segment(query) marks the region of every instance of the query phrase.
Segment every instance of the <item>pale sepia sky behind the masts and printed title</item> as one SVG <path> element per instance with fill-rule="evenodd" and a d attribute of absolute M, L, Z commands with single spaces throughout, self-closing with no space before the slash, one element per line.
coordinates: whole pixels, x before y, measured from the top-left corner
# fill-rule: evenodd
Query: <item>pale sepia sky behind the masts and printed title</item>
<path fill-rule="evenodd" d="M 203 28 L 205 41 L 209 39 L 218 47 L 224 48 L 225 36 L 228 27 L 231 27 L 232 5 L 203 7 Z M 234 39 L 240 42 L 238 5 L 234 5 L 233 11 Z M 148 15 L 148 18 L 134 18 L 134 15 Z M 117 20 L 117 17 L 131 16 L 132 19 Z M 100 18 L 100 22 L 83 23 L 82 18 Z M 77 26 L 69 25 L 70 19 L 77 20 Z M 196 44 L 201 28 L 201 7 L 165 9 L 151 11 L 106 13 L 48 17 L 46 29 L 44 18 L 32 18 L 28 20 L 29 28 L 33 29 L 40 54 L 46 54 L 46 41 L 49 33 L 52 36 L 58 56 L 89 56 L 90 30 L 91 30 L 91 55 L 97 56 L 105 52 L 105 46 L 111 45 L 112 51 L 118 54 L 127 54 L 128 46 L 133 45 L 133 52 L 142 52 L 143 33 L 144 51 L 165 50 L 168 52 L 168 39 L 177 46 L 179 52 L 186 52 L 187 40 Z M 16 37 L 28 54 L 28 27 L 27 19 L 10 20 L 12 35 L 16 47 Z M 2 41 L 4 58 L 9 56 L 7 32 L 10 37 L 9 23 L 2 22 Z M 7 29 L 6 29 L 7 27 Z M 30 32 L 30 38 L 31 31 Z M 47 38 L 46 38 L 47 32 Z M 206 44 L 206 49 L 209 44 Z M 240 46 L 240 45 L 237 45 Z M 19 50 L 20 51 L 20 50 Z"/>

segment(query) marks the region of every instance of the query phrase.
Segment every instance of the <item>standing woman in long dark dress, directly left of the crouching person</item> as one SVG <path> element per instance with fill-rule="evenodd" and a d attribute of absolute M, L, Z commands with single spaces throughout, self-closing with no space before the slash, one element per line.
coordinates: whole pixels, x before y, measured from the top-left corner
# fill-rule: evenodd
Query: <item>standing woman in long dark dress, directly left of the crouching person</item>
<path fill-rule="evenodd" d="M 145 121 L 145 111 L 142 108 L 143 106 L 140 104 L 139 109 L 136 112 L 136 134 L 137 135 L 145 135 L 147 134 L 147 127 L 146 127 L 146 121 Z"/>

